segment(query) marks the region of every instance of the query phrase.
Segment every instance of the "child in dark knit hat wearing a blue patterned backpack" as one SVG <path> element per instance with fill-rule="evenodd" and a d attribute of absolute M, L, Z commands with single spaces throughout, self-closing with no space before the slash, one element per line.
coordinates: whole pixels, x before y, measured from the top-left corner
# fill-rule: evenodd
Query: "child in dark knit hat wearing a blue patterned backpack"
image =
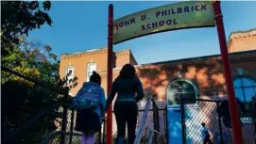
<path fill-rule="evenodd" d="M 101 77 L 93 72 L 89 82 L 85 82 L 73 98 L 77 109 L 75 130 L 83 133 L 81 144 L 94 144 L 94 134 L 101 130 L 106 109 L 104 89 L 100 87 Z"/>

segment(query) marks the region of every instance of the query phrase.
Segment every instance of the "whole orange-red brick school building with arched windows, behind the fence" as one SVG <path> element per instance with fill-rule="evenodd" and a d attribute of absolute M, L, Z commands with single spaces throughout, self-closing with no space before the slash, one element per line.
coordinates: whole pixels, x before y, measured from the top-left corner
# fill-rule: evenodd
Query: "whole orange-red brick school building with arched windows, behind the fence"
<path fill-rule="evenodd" d="M 230 52 L 230 69 L 236 97 L 242 102 L 250 102 L 251 98 L 256 95 L 256 29 L 232 32 L 228 41 L 228 50 Z M 157 95 L 159 108 L 166 107 L 166 102 L 167 105 L 179 106 L 180 92 L 178 83 L 180 84 L 180 82 L 182 84 L 183 97 L 213 100 L 227 97 L 220 55 L 138 65 L 131 51 L 127 49 L 114 52 L 113 59 L 113 79 L 119 74 L 124 64 L 130 63 L 134 65 L 137 75 L 143 83 L 145 93 Z M 101 75 L 102 87 L 106 92 L 107 48 L 61 55 L 60 76 L 63 77 L 68 71 L 73 72 L 70 78 L 75 75 L 78 78 L 78 86 L 70 91 L 70 95 L 76 95 L 77 90 L 82 86 L 83 82 L 89 80 L 88 77 L 93 71 Z M 165 101 L 166 98 L 167 101 Z M 194 120 L 192 121 L 192 127 L 196 128 L 197 131 L 200 128 L 200 125 L 198 125 L 201 122 L 200 120 L 204 118 L 210 130 L 215 132 L 215 127 L 218 126 L 216 120 L 213 119 L 216 117 L 214 112 L 215 105 L 209 108 L 204 104 L 196 104 L 196 102 L 191 102 L 191 104 L 195 104 L 198 107 L 194 111 L 191 110 L 191 113 L 196 113 L 200 117 L 200 119 L 192 118 Z M 142 102 L 139 104 L 139 107 L 143 108 L 144 105 L 145 103 Z M 148 117 L 149 121 L 151 120 L 151 124 L 147 122 L 146 128 L 152 126 L 152 115 Z M 160 116 L 161 123 L 164 123 L 164 120 L 166 120 L 166 117 L 162 113 Z M 251 143 L 254 135 L 252 122 L 250 120 L 243 122 L 247 123 L 243 127 L 243 134 L 247 134 L 244 138 L 246 143 Z M 171 125 L 171 123 L 169 124 Z M 164 126 L 162 125 L 162 132 L 163 129 Z M 228 132 L 228 129 L 223 129 L 223 133 L 226 134 Z M 114 130 L 113 135 L 115 134 L 116 131 Z M 191 137 L 196 136 L 200 136 L 200 134 L 191 134 Z M 196 139 L 200 138 L 196 137 Z"/>

